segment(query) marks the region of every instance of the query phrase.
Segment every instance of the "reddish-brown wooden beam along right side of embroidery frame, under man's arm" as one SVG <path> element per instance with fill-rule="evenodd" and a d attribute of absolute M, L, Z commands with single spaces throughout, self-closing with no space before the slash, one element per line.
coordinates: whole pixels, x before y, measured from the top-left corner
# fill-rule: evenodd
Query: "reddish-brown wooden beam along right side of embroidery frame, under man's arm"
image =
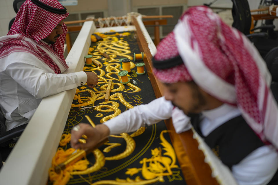
<path fill-rule="evenodd" d="M 161 97 L 163 95 L 163 86 L 153 75 L 152 55 L 149 51 L 148 44 L 135 17 L 132 17 L 132 23 L 136 27 L 140 50 L 143 50 L 146 54 L 144 62 L 153 86 L 153 91 L 157 98 Z M 204 162 L 205 157 L 203 152 L 198 149 L 198 142 L 193 138 L 192 130 L 176 134 L 171 119 L 165 120 L 165 124 L 169 130 L 171 142 L 186 183 L 188 185 L 217 185 L 217 180 L 211 176 L 209 164 Z"/>

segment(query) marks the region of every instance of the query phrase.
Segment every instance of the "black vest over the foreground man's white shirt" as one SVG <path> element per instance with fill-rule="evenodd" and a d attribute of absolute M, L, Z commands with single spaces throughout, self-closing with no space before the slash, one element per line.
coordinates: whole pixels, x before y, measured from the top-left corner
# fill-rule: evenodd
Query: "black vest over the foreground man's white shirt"
<path fill-rule="evenodd" d="M 230 169 L 252 151 L 264 146 L 241 115 L 220 125 L 206 137 L 200 131 L 199 114 L 191 117 L 191 124 L 215 155 Z M 278 184 L 278 171 L 268 183 L 270 184 Z"/>

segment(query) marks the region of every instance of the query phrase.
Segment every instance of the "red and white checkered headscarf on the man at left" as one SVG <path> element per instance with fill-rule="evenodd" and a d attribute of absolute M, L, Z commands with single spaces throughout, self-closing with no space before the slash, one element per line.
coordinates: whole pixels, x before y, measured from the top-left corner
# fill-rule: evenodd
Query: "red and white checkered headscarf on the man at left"
<path fill-rule="evenodd" d="M 57 0 L 40 1 L 52 8 L 64 8 Z M 57 14 L 50 12 L 35 5 L 31 0 L 26 0 L 17 12 L 17 16 L 7 36 L 0 39 L 0 59 L 8 56 L 11 52 L 17 51 L 16 48 L 21 46 L 21 51 L 24 50 L 23 52 L 35 52 L 35 55 L 53 69 L 56 74 L 65 71 L 65 69 L 68 68 L 63 55 L 67 32 L 66 25 L 62 25 L 63 34 L 61 34 L 56 39 L 55 44 L 50 45 L 50 47 L 40 40 L 49 36 L 57 24 L 66 18 L 68 14 L 69 13 Z M 18 36 L 14 37 L 13 35 Z M 34 40 L 35 44 L 29 42 L 27 38 Z M 25 47 L 26 49 L 22 49 L 22 47 Z M 53 58 L 49 56 L 47 54 L 48 52 L 53 53 L 55 57 Z M 61 63 L 62 68 L 65 69 L 60 69 L 53 61 L 57 60 L 57 58 L 58 61 L 56 62 Z"/>

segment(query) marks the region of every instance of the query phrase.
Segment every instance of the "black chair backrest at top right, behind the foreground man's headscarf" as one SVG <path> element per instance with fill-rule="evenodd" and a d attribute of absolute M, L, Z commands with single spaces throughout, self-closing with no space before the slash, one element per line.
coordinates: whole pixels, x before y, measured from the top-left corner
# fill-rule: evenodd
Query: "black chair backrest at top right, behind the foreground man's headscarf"
<path fill-rule="evenodd" d="M 251 13 L 247 0 L 232 0 L 233 27 L 244 35 L 250 34 Z"/>

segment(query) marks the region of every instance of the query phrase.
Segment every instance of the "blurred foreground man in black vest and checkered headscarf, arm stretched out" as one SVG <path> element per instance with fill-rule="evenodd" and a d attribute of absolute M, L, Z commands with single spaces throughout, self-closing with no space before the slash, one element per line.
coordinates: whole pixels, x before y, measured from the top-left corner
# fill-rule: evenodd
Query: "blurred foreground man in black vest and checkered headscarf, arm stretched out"
<path fill-rule="evenodd" d="M 190 8 L 158 45 L 153 66 L 164 97 L 96 128 L 80 124 L 72 130 L 72 147 L 92 147 L 109 134 L 170 117 L 180 133 L 190 128 L 190 119 L 238 184 L 278 184 L 278 110 L 271 76 L 244 35 L 211 9 Z M 82 134 L 86 144 L 78 143 Z"/>

